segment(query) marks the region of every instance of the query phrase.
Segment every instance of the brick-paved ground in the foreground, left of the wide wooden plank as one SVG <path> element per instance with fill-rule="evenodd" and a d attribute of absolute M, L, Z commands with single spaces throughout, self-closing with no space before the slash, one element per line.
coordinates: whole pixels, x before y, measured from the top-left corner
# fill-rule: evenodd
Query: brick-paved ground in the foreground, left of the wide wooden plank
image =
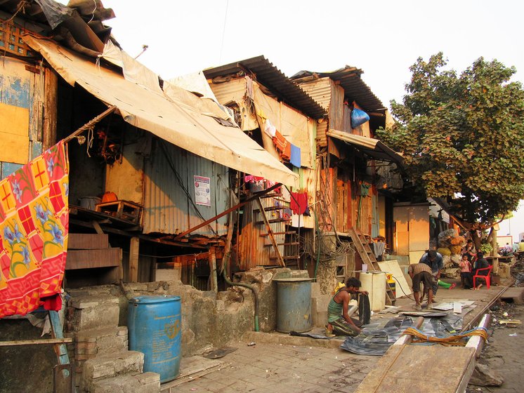
<path fill-rule="evenodd" d="M 354 392 L 379 357 L 342 349 L 238 342 L 225 367 L 176 387 L 176 392 Z"/>

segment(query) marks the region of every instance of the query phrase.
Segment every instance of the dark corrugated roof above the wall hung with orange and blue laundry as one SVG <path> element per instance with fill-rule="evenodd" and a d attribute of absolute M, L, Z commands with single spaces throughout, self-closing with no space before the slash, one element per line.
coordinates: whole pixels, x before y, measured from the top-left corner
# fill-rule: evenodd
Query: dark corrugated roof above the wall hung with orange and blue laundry
<path fill-rule="evenodd" d="M 256 81 L 258 81 L 258 83 L 270 89 L 272 93 L 277 95 L 277 97 L 287 103 L 287 105 L 299 109 L 303 114 L 313 117 L 313 119 L 320 119 L 326 114 L 325 109 L 318 105 L 313 98 L 285 76 L 280 69 L 275 67 L 273 63 L 264 58 L 264 56 L 257 56 L 256 58 L 232 62 L 228 65 L 204 69 L 204 75 L 207 79 L 238 74 L 240 72 L 244 74 L 252 72 L 256 75 Z"/>

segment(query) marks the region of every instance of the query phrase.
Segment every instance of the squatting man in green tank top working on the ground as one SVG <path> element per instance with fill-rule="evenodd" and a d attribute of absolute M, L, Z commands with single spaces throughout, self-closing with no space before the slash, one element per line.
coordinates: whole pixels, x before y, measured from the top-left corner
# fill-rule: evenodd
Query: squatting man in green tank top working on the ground
<path fill-rule="evenodd" d="M 355 336 L 360 333 L 360 328 L 357 324 L 360 321 L 352 319 L 348 314 L 349 300 L 351 295 L 362 293 L 367 295 L 367 291 L 360 291 L 360 281 L 355 277 L 350 277 L 346 281 L 346 286 L 343 286 L 336 291 L 332 300 L 327 305 L 327 333 L 336 335 L 351 335 Z"/>

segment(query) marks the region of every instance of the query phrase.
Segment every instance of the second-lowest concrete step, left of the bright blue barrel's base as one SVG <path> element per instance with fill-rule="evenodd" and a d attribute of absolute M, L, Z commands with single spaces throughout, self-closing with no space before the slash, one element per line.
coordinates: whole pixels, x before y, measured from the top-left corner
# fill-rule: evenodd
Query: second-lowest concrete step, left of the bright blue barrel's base
<path fill-rule="evenodd" d="M 96 380 L 113 378 L 122 374 L 142 373 L 144 354 L 137 351 L 122 351 L 103 354 L 86 360 L 82 380 L 84 386 L 91 385 Z"/>

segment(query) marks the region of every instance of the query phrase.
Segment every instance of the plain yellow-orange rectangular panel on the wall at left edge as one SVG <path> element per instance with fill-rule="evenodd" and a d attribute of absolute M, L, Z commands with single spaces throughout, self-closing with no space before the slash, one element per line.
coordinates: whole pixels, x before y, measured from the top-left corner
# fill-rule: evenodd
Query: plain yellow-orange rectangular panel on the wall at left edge
<path fill-rule="evenodd" d="M 0 161 L 27 164 L 29 109 L 0 103 Z"/>

